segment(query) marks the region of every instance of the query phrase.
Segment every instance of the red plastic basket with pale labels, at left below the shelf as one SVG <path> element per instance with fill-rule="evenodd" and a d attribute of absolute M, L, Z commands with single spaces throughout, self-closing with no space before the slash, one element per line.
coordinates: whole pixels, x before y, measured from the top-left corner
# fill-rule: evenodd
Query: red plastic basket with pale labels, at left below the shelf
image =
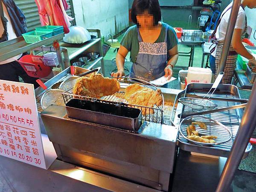
<path fill-rule="evenodd" d="M 42 56 L 37 55 L 24 55 L 17 62 L 26 71 L 28 76 L 35 78 L 47 77 L 52 69 L 47 67 L 41 61 Z"/>

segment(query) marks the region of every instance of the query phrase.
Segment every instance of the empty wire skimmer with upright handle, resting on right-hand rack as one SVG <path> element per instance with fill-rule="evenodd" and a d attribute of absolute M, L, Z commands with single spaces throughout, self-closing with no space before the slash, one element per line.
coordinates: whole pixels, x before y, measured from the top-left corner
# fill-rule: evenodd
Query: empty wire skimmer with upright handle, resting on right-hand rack
<path fill-rule="evenodd" d="M 217 89 L 223 76 L 224 76 L 224 72 L 219 73 L 219 75 L 216 78 L 211 89 L 208 91 L 208 93 L 202 99 L 182 97 L 182 98 L 178 99 L 178 101 L 181 102 L 183 105 L 185 105 L 189 108 L 195 109 L 195 110 L 212 110 L 212 109 L 214 109 L 215 107 L 217 107 L 217 105 L 215 103 L 209 101 L 209 99 L 211 98 L 211 96 L 215 92 L 215 90 Z M 212 89 L 214 89 L 214 90 L 212 91 Z M 209 95 L 209 97 L 207 97 L 211 91 L 212 91 L 212 93 Z"/>

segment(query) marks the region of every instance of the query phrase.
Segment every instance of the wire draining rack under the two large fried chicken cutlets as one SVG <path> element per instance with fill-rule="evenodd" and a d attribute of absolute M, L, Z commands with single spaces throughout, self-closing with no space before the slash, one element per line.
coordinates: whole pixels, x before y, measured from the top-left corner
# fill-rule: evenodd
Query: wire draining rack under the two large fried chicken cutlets
<path fill-rule="evenodd" d="M 143 120 L 148 121 L 148 122 L 155 122 L 155 123 L 163 123 L 163 104 L 164 104 L 164 100 L 162 103 L 162 106 L 155 106 L 153 108 L 150 107 L 145 107 L 145 106 L 140 106 L 140 105 L 130 105 L 128 104 L 128 102 L 124 99 L 124 94 L 125 94 L 125 88 L 128 87 L 131 84 L 134 84 L 134 81 L 137 79 L 133 79 L 133 78 L 128 78 L 128 77 L 124 77 L 122 78 L 122 80 L 119 80 L 120 83 L 120 91 L 116 92 L 115 94 L 111 95 L 111 96 L 104 96 L 100 99 L 97 99 L 98 102 L 104 102 L 104 103 L 110 103 L 110 104 L 118 104 L 118 105 L 122 105 L 122 106 L 128 106 L 128 107 L 132 107 L 132 108 L 138 108 L 142 111 L 149 111 L 149 114 L 144 115 L 143 116 Z M 149 87 L 153 90 L 157 90 L 157 87 L 154 86 L 153 84 L 149 84 L 146 81 L 136 81 L 137 84 L 140 84 L 143 87 Z M 91 98 L 91 97 L 87 97 L 87 96 L 77 96 L 73 94 L 73 88 L 65 91 L 63 94 L 63 99 L 64 99 L 64 103 L 66 104 L 67 102 L 70 101 L 70 99 L 73 98 L 78 98 L 78 99 L 84 99 L 84 100 L 95 100 L 95 98 Z M 162 94 L 162 99 L 163 99 L 163 94 Z"/>

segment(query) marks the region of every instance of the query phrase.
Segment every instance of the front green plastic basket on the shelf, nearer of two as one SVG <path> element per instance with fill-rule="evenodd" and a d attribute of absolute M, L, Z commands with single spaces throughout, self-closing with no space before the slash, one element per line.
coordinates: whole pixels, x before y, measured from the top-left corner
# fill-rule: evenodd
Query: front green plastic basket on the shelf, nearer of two
<path fill-rule="evenodd" d="M 31 31 L 22 34 L 27 44 L 34 44 L 38 41 L 52 37 L 52 32 L 48 31 Z"/>

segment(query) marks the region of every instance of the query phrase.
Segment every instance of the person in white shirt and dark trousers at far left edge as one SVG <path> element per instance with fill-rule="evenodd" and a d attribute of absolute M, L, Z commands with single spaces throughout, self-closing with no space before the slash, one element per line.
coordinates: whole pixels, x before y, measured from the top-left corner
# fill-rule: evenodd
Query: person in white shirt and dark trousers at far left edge
<path fill-rule="evenodd" d="M 12 1 L 10 0 L 0 0 L 0 3 L 2 7 L 0 7 L 0 42 L 6 41 L 6 40 L 12 40 L 14 38 L 17 38 L 16 31 L 14 30 L 14 27 L 12 26 L 12 18 L 10 17 L 8 10 L 10 10 L 9 7 L 11 6 Z M 0 6 L 1 6 L 0 5 Z M 15 5 L 16 6 L 16 5 Z M 8 10 L 7 10 L 8 8 Z M 14 7 L 15 9 L 16 7 Z M 20 9 L 18 9 L 20 11 Z M 21 11 L 20 11 L 21 12 Z M 15 12 L 13 12 L 15 13 Z M 22 13 L 23 14 L 23 13 Z M 4 22 L 6 21 L 7 22 Z M 7 37 L 6 37 L 7 35 Z M 26 74 L 25 70 L 20 66 L 20 64 L 15 61 L 19 59 L 23 54 L 14 56 L 12 58 L 9 58 L 5 61 L 0 62 L 0 79 L 2 80 L 8 80 L 8 81 L 19 81 L 19 76 L 23 79 L 25 83 L 31 83 L 34 84 L 34 87 L 38 87 L 38 84 L 36 83 L 36 79 L 33 77 L 30 77 Z"/>

